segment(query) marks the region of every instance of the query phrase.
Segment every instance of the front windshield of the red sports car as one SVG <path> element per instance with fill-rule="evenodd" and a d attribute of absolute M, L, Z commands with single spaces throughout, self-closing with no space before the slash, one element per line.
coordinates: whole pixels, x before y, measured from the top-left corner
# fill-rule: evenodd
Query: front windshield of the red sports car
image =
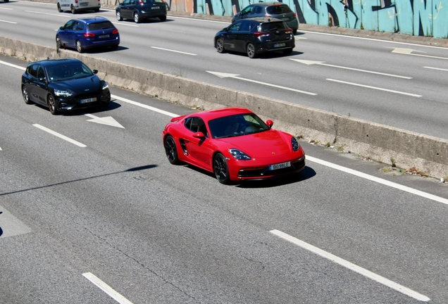
<path fill-rule="evenodd" d="M 269 127 L 254 113 L 216 118 L 209 121 L 212 138 L 236 137 L 267 131 Z"/>

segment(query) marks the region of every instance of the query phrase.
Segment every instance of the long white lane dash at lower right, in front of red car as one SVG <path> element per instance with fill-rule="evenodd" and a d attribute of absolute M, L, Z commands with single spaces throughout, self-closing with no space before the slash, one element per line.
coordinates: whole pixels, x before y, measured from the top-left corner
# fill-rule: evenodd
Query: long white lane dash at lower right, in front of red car
<path fill-rule="evenodd" d="M 406 296 L 410 296 L 411 298 L 415 298 L 416 300 L 421 300 L 424 302 L 428 302 L 429 300 L 431 300 L 430 298 L 428 298 L 427 296 L 424 296 L 421 293 L 418 293 L 416 291 L 413 291 L 412 289 L 409 289 L 405 286 L 395 283 L 394 281 L 391 281 L 390 279 L 381 277 L 378 274 L 375 274 L 375 273 L 368 271 L 362 267 L 359 267 L 358 265 L 355 265 L 347 260 L 339 258 L 336 255 L 332 255 L 331 253 L 323 251 L 322 249 L 317 248 L 309 243 L 306 243 L 304 241 L 296 239 L 296 238 L 294 238 L 294 236 L 290 236 L 289 234 L 285 234 L 284 232 L 280 232 L 279 230 L 276 230 L 276 229 L 271 230 L 270 233 L 275 234 L 276 236 L 280 236 L 282 239 L 290 241 L 290 242 L 296 244 L 297 246 L 300 246 L 301 248 L 306 249 L 307 251 L 311 251 L 312 253 L 321 255 L 321 257 L 331 260 L 332 262 L 335 262 L 343 267 L 346 267 L 349 270 L 357 272 L 357 273 L 363 275 L 364 277 L 368 277 L 369 279 L 372 279 L 373 281 L 377 281 L 378 283 L 383 284 L 387 287 L 390 287 L 391 289 L 399 291 L 400 293 L 404 293 Z"/>

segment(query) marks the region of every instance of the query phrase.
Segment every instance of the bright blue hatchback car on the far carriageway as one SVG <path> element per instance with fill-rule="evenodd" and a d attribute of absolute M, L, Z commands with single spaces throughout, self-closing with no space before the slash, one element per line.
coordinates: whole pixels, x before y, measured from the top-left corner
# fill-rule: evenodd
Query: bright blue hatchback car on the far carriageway
<path fill-rule="evenodd" d="M 56 33 L 58 49 L 72 48 L 82 53 L 87 49 L 110 46 L 117 49 L 120 44 L 118 29 L 106 18 L 88 17 L 72 19 Z"/>

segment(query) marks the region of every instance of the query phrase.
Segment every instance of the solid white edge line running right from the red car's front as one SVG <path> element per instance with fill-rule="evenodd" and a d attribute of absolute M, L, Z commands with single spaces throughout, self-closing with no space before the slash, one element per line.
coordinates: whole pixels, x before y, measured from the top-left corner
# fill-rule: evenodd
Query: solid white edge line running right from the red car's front
<path fill-rule="evenodd" d="M 356 171 L 356 170 L 352 170 L 352 169 L 349 169 L 347 167 L 342 167 L 342 166 L 336 165 L 334 163 L 329 163 L 328 161 L 321 160 L 321 159 L 318 159 L 318 158 L 313 158 L 312 156 L 306 156 L 306 160 L 311 160 L 314 163 L 325 165 L 327 167 L 331 167 L 333 169 L 340 170 L 342 172 L 346 172 L 346 173 L 349 173 L 351 175 L 355 175 L 357 177 L 362 177 L 363 179 L 371 180 L 372 182 L 377 182 L 378 184 L 383 184 L 385 186 L 390 186 L 390 187 L 395 188 L 395 189 L 406 191 L 406 192 L 409 192 L 411 194 L 415 194 L 417 196 L 421 196 L 423 198 L 428 198 L 430 200 L 437 201 L 439 203 L 444 203 L 445 205 L 448 205 L 448 199 L 447 198 L 442 198 L 440 196 L 435 196 L 433 194 L 428 194 L 426 192 L 413 189 L 413 188 L 411 188 L 409 186 L 403 186 L 401 184 L 397 184 L 397 183 L 394 183 L 394 182 L 389 182 L 386 179 L 381 179 L 380 177 L 374 177 L 373 175 L 368 175 L 366 173 L 359 172 L 359 171 Z"/>

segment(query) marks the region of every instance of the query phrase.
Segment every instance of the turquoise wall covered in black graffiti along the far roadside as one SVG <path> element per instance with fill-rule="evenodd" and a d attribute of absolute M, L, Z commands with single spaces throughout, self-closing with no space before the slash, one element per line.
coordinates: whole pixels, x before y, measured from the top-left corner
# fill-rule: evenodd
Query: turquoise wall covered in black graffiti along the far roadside
<path fill-rule="evenodd" d="M 166 0 L 171 11 L 232 16 L 254 0 Z M 268 1 L 266 1 L 268 2 Z M 300 23 L 448 37 L 448 0 L 282 0 Z"/>

